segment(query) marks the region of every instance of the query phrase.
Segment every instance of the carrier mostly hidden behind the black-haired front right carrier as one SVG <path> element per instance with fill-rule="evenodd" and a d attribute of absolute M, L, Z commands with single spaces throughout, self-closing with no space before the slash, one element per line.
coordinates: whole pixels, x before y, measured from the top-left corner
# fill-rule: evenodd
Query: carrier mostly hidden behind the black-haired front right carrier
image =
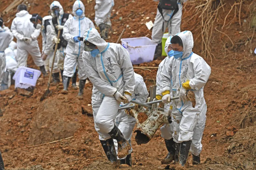
<path fill-rule="evenodd" d="M 172 87 L 172 73 L 166 72 L 166 68 L 169 66 L 172 67 L 173 62 L 175 61 L 173 57 L 173 49 L 171 44 L 172 36 L 169 36 L 165 42 L 165 53 L 167 54 L 167 57 L 159 64 L 158 71 L 156 74 L 156 99 L 157 100 L 163 100 L 164 103 L 167 103 L 167 98 L 162 98 L 161 92 L 160 92 L 160 84 L 162 83 L 160 80 L 160 76 L 163 74 L 166 76 L 168 82 L 170 83 Z M 170 69 L 171 70 L 171 69 Z M 172 95 L 172 94 L 170 94 Z M 172 96 L 171 96 L 172 97 Z M 164 104 L 164 112 L 168 113 L 169 115 L 172 114 L 172 101 L 168 102 L 167 104 Z M 175 142 L 173 141 L 173 125 L 171 124 L 165 124 L 160 128 L 161 130 L 161 137 L 164 138 L 165 146 L 168 150 L 168 153 L 166 157 L 161 161 L 162 164 L 169 164 L 174 160 L 175 155 Z"/>

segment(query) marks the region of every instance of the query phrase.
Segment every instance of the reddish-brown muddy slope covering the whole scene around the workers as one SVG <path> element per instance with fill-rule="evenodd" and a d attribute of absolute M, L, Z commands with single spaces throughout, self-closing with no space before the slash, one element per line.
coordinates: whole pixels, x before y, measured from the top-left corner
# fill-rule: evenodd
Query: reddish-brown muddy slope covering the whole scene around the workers
<path fill-rule="evenodd" d="M 24 2 L 30 5 L 30 13 L 38 12 L 44 16 L 52 1 Z M 212 10 L 219 7 L 218 14 L 209 22 L 213 23 L 209 31 L 212 34 L 209 41 L 211 53 L 214 54 L 212 57 L 207 57 L 202 48 L 204 42 L 201 32 L 204 27 L 200 14 L 203 10 L 196 10 L 200 3 L 191 1 L 183 8 L 181 30 L 193 33 L 193 51 L 204 57 L 211 67 L 211 76 L 204 88 L 207 121 L 202 138 L 202 164 L 192 166 L 190 156 L 187 168 L 256 169 L 256 56 L 252 53 L 256 47 L 255 27 L 252 27 L 255 23 L 253 16 L 256 2 L 212 2 Z M 61 1 L 65 11 L 69 12 L 73 3 L 72 0 Z M 83 3 L 86 6 L 86 16 L 93 20 L 95 2 L 90 0 Z M 1 11 L 9 4 L 10 1 L 2 0 Z M 129 27 L 123 38 L 146 35 L 151 38 L 151 31 L 146 28 L 145 22 L 154 21 L 156 6 L 157 3 L 153 1 L 115 1 L 111 18 L 112 33 L 108 41 L 116 42 L 127 25 Z M 2 17 L 10 27 L 15 9 Z M 156 60 L 139 66 L 157 67 L 160 62 L 161 60 Z M 38 69 L 31 57 L 28 59 L 28 67 Z M 143 76 L 148 89 L 155 84 L 157 70 L 134 71 Z M 52 93 L 40 102 L 47 81 L 47 77 L 40 77 L 30 97 L 16 92 L 13 86 L 0 93 L 0 108 L 3 113 L 0 117 L 0 149 L 6 169 L 113 169 L 106 162 L 94 129 L 90 99 L 92 84 L 86 84 L 82 100 L 76 97 L 77 90 L 70 88 L 68 95 L 62 95 L 60 92 L 63 87 L 52 85 Z M 28 148 L 67 137 L 71 138 Z M 135 135 L 132 136 L 134 166 L 129 168 L 122 165 L 120 168 L 165 168 L 165 165 L 161 165 L 161 160 L 167 150 L 161 132 L 158 130 L 149 143 L 140 146 L 136 144 L 134 137 Z M 170 165 L 170 169 L 182 168 Z"/>

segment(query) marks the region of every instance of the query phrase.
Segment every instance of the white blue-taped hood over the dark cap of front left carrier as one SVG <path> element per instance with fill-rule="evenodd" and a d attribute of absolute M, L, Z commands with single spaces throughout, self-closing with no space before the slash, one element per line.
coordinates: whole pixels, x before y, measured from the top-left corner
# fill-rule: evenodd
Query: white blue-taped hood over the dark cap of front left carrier
<path fill-rule="evenodd" d="M 83 41 L 89 41 L 96 45 L 100 53 L 108 46 L 108 43 L 100 37 L 99 32 L 95 28 L 89 28 L 83 35 Z"/>

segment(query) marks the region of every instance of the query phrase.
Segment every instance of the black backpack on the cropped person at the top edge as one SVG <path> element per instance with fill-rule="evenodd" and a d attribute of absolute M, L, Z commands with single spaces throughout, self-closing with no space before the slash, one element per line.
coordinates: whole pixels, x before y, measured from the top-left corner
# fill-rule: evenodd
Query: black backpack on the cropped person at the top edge
<path fill-rule="evenodd" d="M 162 15 L 163 17 L 163 20 L 168 22 L 169 20 L 165 20 L 164 19 L 164 15 L 163 15 L 163 9 L 167 9 L 167 10 L 174 10 L 173 11 L 173 15 L 171 16 L 170 19 L 173 18 L 173 16 L 178 12 L 179 10 L 179 6 L 178 6 L 178 0 L 161 0 L 159 3 L 158 3 L 158 10 L 160 12 L 160 14 Z M 163 28 L 162 28 L 162 31 L 164 31 L 164 21 L 163 21 Z"/>

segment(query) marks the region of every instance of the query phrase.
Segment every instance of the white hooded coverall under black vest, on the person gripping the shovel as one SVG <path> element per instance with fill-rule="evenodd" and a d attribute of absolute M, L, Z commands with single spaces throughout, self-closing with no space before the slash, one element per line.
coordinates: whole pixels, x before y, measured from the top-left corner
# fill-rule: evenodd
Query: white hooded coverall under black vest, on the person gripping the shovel
<path fill-rule="evenodd" d="M 64 14 L 64 10 L 63 10 L 63 7 L 60 5 L 60 3 L 58 1 L 54 1 L 51 3 L 50 5 L 50 9 L 52 9 L 54 6 L 57 6 L 59 7 L 59 10 L 60 10 L 60 15 L 57 19 L 57 22 L 58 22 L 58 25 L 61 25 L 61 19 L 62 19 L 62 16 Z M 51 16 L 52 17 L 56 17 L 54 12 L 51 13 Z M 68 18 L 72 18 L 73 16 L 71 14 L 69 14 Z M 51 40 L 52 42 L 54 43 L 54 38 L 57 37 L 57 33 L 55 31 L 55 27 L 53 25 L 53 23 L 51 22 Z M 64 47 L 60 47 L 60 49 L 57 50 L 57 54 L 58 54 L 58 68 L 60 70 L 63 70 L 63 65 L 64 65 L 64 57 L 65 57 L 65 50 L 66 48 Z M 56 55 L 57 55 L 56 54 Z"/>

